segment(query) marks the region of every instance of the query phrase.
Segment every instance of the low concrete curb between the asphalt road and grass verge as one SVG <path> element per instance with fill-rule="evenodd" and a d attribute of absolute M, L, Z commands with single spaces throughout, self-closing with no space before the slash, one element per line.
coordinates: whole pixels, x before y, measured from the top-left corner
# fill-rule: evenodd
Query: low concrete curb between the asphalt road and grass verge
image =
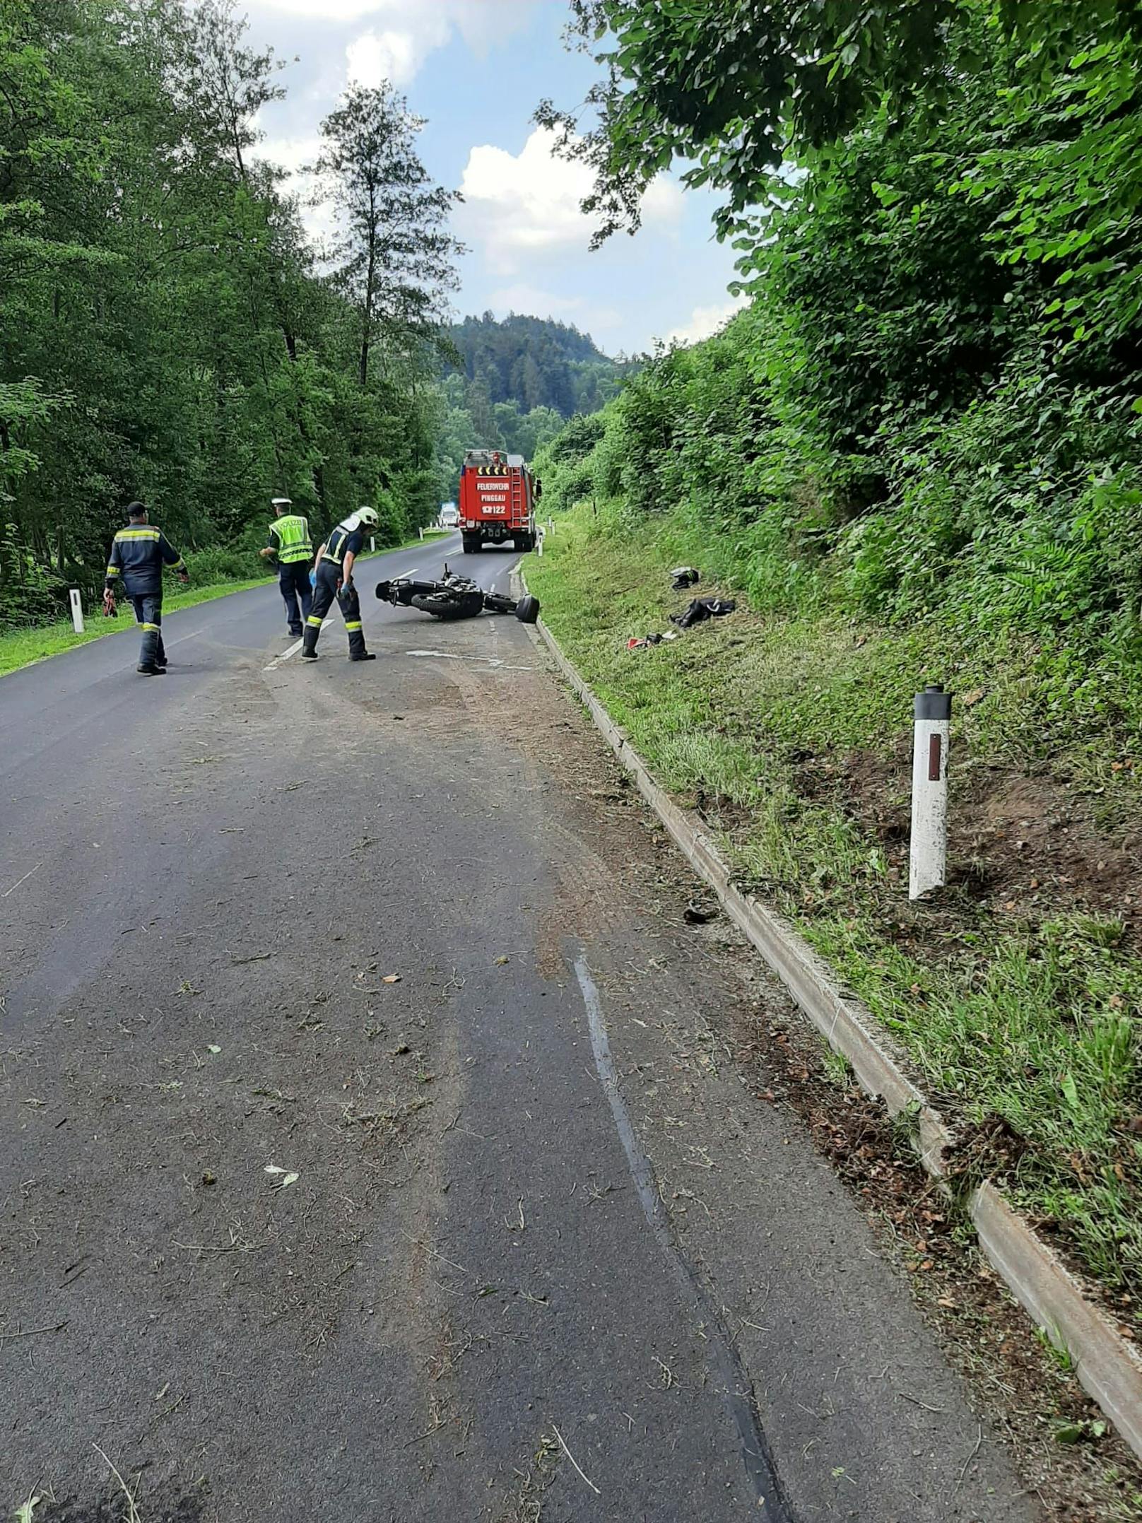
<path fill-rule="evenodd" d="M 527 586 L 522 574 L 521 582 Z M 876 1017 L 842 995 L 822 959 L 790 924 L 734 886 L 728 865 L 700 824 L 655 783 L 643 758 L 571 666 L 542 618 L 536 627 L 556 666 L 633 777 L 643 798 L 694 871 L 714 889 L 729 918 L 769 963 L 801 1011 L 828 1045 L 848 1058 L 862 1087 L 880 1097 L 892 1115 L 908 1107 L 917 1112 L 924 1168 L 946 1182 L 949 1165 L 944 1150 L 955 1141 L 953 1133 L 908 1077 L 898 1052 L 888 1034 L 879 1030 Z M 994 1185 L 982 1183 L 971 1194 L 967 1209 L 991 1266 L 1034 1322 L 1048 1331 L 1054 1343 L 1067 1349 L 1084 1389 L 1142 1459 L 1142 1355 Z"/>

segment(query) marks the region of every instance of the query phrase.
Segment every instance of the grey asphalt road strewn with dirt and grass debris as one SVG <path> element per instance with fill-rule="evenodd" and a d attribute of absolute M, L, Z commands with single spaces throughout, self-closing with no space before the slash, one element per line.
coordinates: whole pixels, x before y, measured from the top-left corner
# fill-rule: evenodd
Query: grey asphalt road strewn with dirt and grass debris
<path fill-rule="evenodd" d="M 0 1517 L 1031 1523 L 528 632 L 372 597 L 446 557 L 0 679 Z"/>

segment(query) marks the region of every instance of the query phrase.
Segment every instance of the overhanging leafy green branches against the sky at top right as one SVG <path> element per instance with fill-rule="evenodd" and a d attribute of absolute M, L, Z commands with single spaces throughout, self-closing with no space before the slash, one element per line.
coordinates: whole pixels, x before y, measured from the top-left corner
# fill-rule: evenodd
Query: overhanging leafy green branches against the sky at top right
<path fill-rule="evenodd" d="M 1128 0 L 573 0 L 571 9 L 571 35 L 594 50 L 601 79 L 579 111 L 544 101 L 536 120 L 595 171 L 583 201 L 601 219 L 594 247 L 638 225 L 643 192 L 676 160 L 688 164 L 684 184 L 726 192 L 717 213 L 726 236 L 755 225 L 758 206 L 783 204 L 783 164 L 827 161 L 872 111 L 889 126 L 918 113 L 938 125 L 949 94 L 994 58 L 981 30 L 1011 41 L 1023 88 L 1040 97 L 1080 52 L 1101 62 L 1112 94 L 1110 55 L 1119 44 L 1136 55 L 1142 34 Z M 1110 55 L 1099 59 L 1101 47 Z"/>

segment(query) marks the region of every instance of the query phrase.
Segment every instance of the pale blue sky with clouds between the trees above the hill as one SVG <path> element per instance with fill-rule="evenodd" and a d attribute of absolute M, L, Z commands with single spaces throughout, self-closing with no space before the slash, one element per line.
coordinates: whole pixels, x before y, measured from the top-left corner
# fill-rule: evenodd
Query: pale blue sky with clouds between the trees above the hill
<path fill-rule="evenodd" d="M 315 157 L 318 123 L 350 79 L 390 78 L 428 117 L 425 164 L 464 193 L 458 312 L 556 317 L 609 353 L 633 353 L 656 338 L 702 338 L 734 309 L 713 201 L 673 178 L 652 187 L 635 238 L 589 253 L 592 227 L 579 212 L 589 174 L 554 158 L 530 120 L 542 96 L 574 107 L 594 78 L 591 61 L 560 41 L 563 0 L 239 0 L 238 9 L 251 41 L 291 59 L 288 99 L 259 123 L 262 151 L 279 163 Z"/>

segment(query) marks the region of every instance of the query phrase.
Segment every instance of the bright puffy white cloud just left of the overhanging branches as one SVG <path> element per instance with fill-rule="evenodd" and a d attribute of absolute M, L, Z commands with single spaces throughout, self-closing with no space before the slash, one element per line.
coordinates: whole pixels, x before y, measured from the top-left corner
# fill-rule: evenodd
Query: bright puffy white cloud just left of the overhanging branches
<path fill-rule="evenodd" d="M 559 158 L 553 145 L 554 133 L 536 128 L 519 154 L 486 143 L 467 157 L 455 222 L 498 274 L 515 274 L 545 251 L 585 248 L 591 239 L 594 219 L 579 206 L 594 175 L 588 164 Z M 644 221 L 661 228 L 681 213 L 682 192 L 656 180 L 643 204 Z"/>

